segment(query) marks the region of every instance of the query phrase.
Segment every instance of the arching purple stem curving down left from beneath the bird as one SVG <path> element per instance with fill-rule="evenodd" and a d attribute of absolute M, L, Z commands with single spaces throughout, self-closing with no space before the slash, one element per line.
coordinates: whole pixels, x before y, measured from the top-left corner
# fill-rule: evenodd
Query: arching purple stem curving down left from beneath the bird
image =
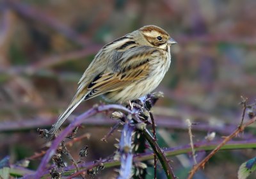
<path fill-rule="evenodd" d="M 49 160 L 51 160 L 52 155 L 56 152 L 56 149 L 58 148 L 59 144 L 65 137 L 72 132 L 72 130 L 77 127 L 78 125 L 81 125 L 83 120 L 86 118 L 92 116 L 93 114 L 100 113 L 102 111 L 109 111 L 109 110 L 121 110 L 124 111 L 125 113 L 131 113 L 129 109 L 123 107 L 122 105 L 116 105 L 116 104 L 110 104 L 110 105 L 99 105 L 99 107 L 94 107 L 86 111 L 85 113 L 81 114 L 80 116 L 77 116 L 70 125 L 68 125 L 67 128 L 65 128 L 56 139 L 52 142 L 51 147 L 47 150 L 47 152 L 44 155 L 44 158 L 41 160 L 40 166 L 36 170 L 35 175 L 33 176 L 24 176 L 24 178 L 40 178 L 41 176 L 44 175 L 45 167 L 47 166 Z"/>

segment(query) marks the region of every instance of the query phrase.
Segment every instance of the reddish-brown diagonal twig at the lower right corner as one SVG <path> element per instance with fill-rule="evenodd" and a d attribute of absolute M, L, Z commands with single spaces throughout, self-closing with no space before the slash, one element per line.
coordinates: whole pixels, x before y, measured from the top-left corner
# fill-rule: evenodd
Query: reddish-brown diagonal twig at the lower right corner
<path fill-rule="evenodd" d="M 236 137 L 240 132 L 243 132 L 245 127 L 248 127 L 248 125 L 254 123 L 256 121 L 256 117 L 252 118 L 251 120 L 247 121 L 244 125 L 239 126 L 234 132 L 232 132 L 232 134 L 230 134 L 229 136 L 225 137 L 225 139 L 218 144 L 218 146 L 216 146 L 216 148 L 214 148 L 214 150 L 212 150 L 212 152 L 207 155 L 207 157 L 205 157 L 204 160 L 202 160 L 200 163 L 198 163 L 196 166 L 193 167 L 193 169 L 191 169 L 188 179 L 192 179 L 193 176 L 195 175 L 196 171 L 198 169 L 200 169 L 200 167 L 204 167 L 205 163 L 211 159 L 211 157 L 220 150 L 220 148 L 222 146 L 224 146 L 228 141 L 230 141 L 233 137 Z"/>

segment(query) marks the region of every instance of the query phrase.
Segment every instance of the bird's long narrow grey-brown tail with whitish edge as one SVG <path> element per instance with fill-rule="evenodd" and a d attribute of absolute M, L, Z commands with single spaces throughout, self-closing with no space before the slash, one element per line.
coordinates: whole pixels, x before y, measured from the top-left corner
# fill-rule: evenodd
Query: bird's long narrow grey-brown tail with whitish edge
<path fill-rule="evenodd" d="M 70 105 L 68 105 L 67 109 L 60 115 L 56 123 L 52 125 L 49 134 L 54 135 L 61 127 L 61 124 L 68 118 L 68 116 L 74 111 L 74 109 L 76 109 L 77 105 L 79 105 L 82 101 L 83 97 L 77 99 L 77 97 L 75 96 Z"/>

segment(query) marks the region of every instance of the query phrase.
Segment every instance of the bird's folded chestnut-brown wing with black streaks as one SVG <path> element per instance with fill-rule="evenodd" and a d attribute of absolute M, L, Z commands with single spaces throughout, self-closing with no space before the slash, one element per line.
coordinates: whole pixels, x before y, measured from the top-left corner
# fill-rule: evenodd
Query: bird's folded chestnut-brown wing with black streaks
<path fill-rule="evenodd" d="M 107 69 L 97 75 L 87 86 L 85 99 L 123 89 L 133 82 L 145 79 L 150 73 L 149 61 L 155 58 L 157 49 L 148 46 L 135 47 L 125 51 L 122 58 L 113 61 L 114 69 Z"/>

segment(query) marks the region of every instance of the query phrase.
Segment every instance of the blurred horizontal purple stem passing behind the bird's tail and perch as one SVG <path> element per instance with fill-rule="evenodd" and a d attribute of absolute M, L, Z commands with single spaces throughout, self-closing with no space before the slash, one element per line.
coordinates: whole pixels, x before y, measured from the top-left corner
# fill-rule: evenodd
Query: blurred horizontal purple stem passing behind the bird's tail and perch
<path fill-rule="evenodd" d="M 166 118 L 161 116 L 156 116 L 156 125 L 157 127 L 173 128 L 173 129 L 183 129 L 188 130 L 188 125 L 182 120 L 176 120 L 173 118 Z M 17 132 L 20 130 L 29 130 L 31 128 L 38 127 L 48 127 L 51 126 L 55 118 L 38 118 L 35 120 L 20 120 L 20 121 L 3 121 L 0 123 L 0 133 L 1 132 Z M 112 126 L 116 121 L 108 120 L 107 118 L 102 117 L 92 117 L 88 120 L 83 121 L 83 124 L 87 126 Z M 193 125 L 193 130 L 200 132 L 218 132 L 222 135 L 230 134 L 237 128 L 237 125 L 232 124 L 223 124 L 223 125 L 209 125 L 209 123 L 198 123 Z M 252 134 L 244 134 L 243 138 L 252 137 Z"/>

